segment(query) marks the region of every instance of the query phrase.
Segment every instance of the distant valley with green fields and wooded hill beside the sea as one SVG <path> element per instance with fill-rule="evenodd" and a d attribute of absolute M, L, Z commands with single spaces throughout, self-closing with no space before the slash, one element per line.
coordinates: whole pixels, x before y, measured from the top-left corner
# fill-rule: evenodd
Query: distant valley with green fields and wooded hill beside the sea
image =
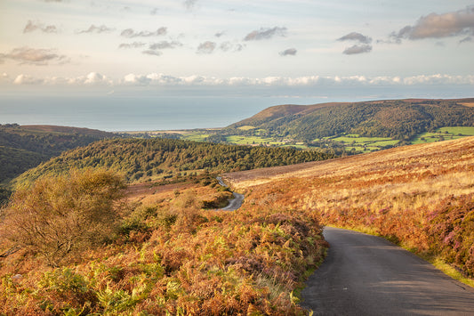
<path fill-rule="evenodd" d="M 471 102 L 472 99 L 288 104 L 264 109 L 223 128 L 141 135 L 358 154 L 472 136 Z"/>

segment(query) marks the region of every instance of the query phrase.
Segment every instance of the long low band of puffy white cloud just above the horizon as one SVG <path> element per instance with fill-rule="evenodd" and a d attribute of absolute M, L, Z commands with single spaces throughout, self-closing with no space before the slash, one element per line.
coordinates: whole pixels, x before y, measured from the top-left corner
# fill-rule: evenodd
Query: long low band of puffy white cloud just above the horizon
<path fill-rule="evenodd" d="M 419 75 L 412 77 L 366 77 L 366 76 L 304 76 L 304 77 L 205 77 L 186 76 L 174 77 L 162 73 L 149 73 L 146 75 L 130 73 L 120 79 L 111 79 L 97 72 L 91 72 L 80 77 L 31 77 L 21 74 L 11 79 L 6 73 L 2 75 L 5 80 L 10 80 L 14 85 L 71 85 L 92 86 L 108 85 L 124 86 L 376 86 L 376 85 L 474 85 L 474 75 L 451 76 L 446 74 Z M 12 80 L 12 81 L 11 81 Z"/>

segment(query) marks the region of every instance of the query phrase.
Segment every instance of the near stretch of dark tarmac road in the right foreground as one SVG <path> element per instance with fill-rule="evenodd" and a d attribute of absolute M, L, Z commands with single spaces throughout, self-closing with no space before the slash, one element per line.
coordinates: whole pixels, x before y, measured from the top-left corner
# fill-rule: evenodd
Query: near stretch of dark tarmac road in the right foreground
<path fill-rule="evenodd" d="M 301 296 L 314 315 L 474 315 L 474 289 L 385 239 L 326 227 L 325 263 Z"/>

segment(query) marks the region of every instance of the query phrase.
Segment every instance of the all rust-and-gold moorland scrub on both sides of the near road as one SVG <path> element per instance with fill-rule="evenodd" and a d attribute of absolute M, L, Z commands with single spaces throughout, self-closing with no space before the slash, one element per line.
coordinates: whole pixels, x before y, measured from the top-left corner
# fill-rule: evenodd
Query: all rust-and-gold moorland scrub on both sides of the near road
<path fill-rule="evenodd" d="M 0 314 L 307 314 L 297 293 L 324 258 L 320 224 L 384 236 L 474 276 L 472 137 L 223 174 L 245 193 L 236 212 L 218 210 L 230 192 L 213 174 L 133 185 L 122 198 L 116 174 L 105 174 L 116 183 L 109 191 L 95 172 L 35 182 L 2 209 Z M 59 258 L 12 222 L 12 210 L 28 215 L 37 200 L 59 216 L 34 226 Z M 104 205 L 114 215 L 107 230 L 76 212 Z M 68 236 L 65 219 L 88 231 L 72 230 L 67 248 L 45 234 Z"/>

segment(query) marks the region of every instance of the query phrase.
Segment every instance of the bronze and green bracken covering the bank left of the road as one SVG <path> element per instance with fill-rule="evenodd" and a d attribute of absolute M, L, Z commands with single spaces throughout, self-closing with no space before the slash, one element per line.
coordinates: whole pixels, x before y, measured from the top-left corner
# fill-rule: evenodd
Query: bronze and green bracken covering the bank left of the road
<path fill-rule="evenodd" d="M 12 246 L 20 250 L 0 257 L 1 314 L 307 313 L 298 306 L 293 290 L 325 253 L 314 215 L 265 206 L 236 212 L 204 210 L 206 203 L 224 193 L 214 182 L 182 183 L 179 190 L 150 187 L 157 191 L 134 194 L 110 209 L 108 201 L 115 193 L 108 192 L 119 186 L 115 180 L 87 181 L 97 176 L 84 175 L 84 182 L 75 173 L 72 178 L 44 177 L 29 189 L 32 197 L 15 193 L 3 223 L 16 218 L 23 207 L 27 211 L 32 199 L 38 212 L 52 214 L 48 223 L 59 228 L 70 212 L 54 216 L 65 209 L 69 197 L 75 202 L 67 205 L 68 211 L 89 203 L 91 210 L 98 210 L 96 202 L 103 199 L 108 207 L 100 209 L 120 216 L 107 240 L 94 239 L 102 243 L 100 247 L 77 243 L 75 255 L 53 263 L 40 255 L 41 245 L 26 247 L 28 242 L 18 238 L 21 232 L 4 224 L 2 228 L 17 238 L 4 239 L 0 234 L 0 254 Z M 57 190 L 54 183 L 67 190 Z M 81 190 L 84 198 L 76 201 Z M 55 240 L 54 231 L 43 227 L 39 231 Z M 85 239 L 95 235 L 94 227 L 85 227 Z"/>

